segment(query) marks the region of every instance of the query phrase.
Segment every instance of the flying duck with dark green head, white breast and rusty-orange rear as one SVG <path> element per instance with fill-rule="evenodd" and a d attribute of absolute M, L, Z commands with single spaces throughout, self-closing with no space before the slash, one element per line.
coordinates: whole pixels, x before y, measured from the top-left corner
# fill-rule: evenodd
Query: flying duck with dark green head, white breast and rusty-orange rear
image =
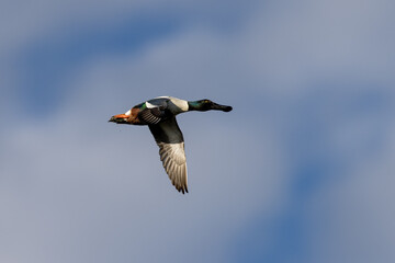
<path fill-rule="evenodd" d="M 110 118 L 115 124 L 148 126 L 159 147 L 159 156 L 174 187 L 188 193 L 188 170 L 184 138 L 176 116 L 181 113 L 199 111 L 230 112 L 232 106 L 221 105 L 211 100 L 185 101 L 173 96 L 158 96 L 139 103 Z"/>

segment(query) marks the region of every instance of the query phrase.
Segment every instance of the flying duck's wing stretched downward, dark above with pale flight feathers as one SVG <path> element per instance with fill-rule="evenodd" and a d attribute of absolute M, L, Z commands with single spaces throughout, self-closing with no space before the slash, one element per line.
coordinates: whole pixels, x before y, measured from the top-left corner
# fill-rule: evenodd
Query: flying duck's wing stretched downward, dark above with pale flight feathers
<path fill-rule="evenodd" d="M 148 127 L 159 146 L 160 160 L 171 183 L 179 192 L 188 193 L 184 141 L 176 117 Z"/>

